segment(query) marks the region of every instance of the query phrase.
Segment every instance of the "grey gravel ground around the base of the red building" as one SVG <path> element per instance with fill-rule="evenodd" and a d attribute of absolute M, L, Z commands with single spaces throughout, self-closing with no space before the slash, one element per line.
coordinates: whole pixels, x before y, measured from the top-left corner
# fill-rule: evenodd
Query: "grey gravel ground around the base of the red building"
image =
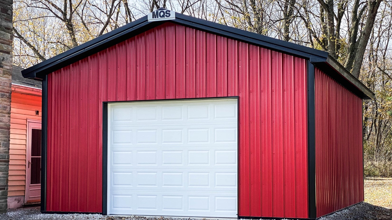
<path fill-rule="evenodd" d="M 41 214 L 38 208 L 10 209 L 0 214 L 0 220 L 194 220 L 192 218 L 163 218 L 142 216 L 103 216 L 99 214 Z M 391 220 L 392 209 L 361 203 L 319 220 Z M 200 220 L 200 219 L 198 219 Z"/>

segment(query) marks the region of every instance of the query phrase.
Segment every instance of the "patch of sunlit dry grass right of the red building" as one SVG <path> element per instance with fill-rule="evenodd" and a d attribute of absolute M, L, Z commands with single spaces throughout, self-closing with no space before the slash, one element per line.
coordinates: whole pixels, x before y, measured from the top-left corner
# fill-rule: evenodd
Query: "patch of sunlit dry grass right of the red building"
<path fill-rule="evenodd" d="M 392 178 L 365 178 L 365 202 L 392 209 Z"/>

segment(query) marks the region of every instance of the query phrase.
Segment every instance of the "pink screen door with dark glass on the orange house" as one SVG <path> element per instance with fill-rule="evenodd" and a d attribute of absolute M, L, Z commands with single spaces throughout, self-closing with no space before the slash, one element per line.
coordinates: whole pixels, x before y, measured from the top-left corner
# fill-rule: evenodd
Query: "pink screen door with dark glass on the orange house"
<path fill-rule="evenodd" d="M 41 201 L 41 121 L 27 119 L 25 203 Z"/>

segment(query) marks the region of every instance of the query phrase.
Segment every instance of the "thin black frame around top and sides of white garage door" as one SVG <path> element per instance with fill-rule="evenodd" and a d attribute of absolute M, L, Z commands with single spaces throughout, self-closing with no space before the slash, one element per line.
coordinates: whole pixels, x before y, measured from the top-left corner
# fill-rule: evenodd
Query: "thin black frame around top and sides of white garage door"
<path fill-rule="evenodd" d="M 200 97 L 200 98 L 184 98 L 184 99 L 150 99 L 150 100 L 131 100 L 131 101 L 104 101 L 102 102 L 102 215 L 107 215 L 107 157 L 108 157 L 108 145 L 107 145 L 107 132 L 108 132 L 108 104 L 111 103 L 138 103 L 138 102 L 156 102 L 156 101 L 189 101 L 189 100 L 209 100 L 209 99 L 237 99 L 237 216 L 239 209 L 239 150 L 240 150 L 240 142 L 239 142 L 239 128 L 240 125 L 240 97 L 239 96 L 225 96 L 225 97 Z"/>

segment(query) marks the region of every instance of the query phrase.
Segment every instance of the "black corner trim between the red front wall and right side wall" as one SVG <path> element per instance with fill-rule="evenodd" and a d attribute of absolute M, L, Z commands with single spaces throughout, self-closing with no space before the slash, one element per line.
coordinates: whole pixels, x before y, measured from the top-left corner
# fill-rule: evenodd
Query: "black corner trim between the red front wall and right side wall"
<path fill-rule="evenodd" d="M 309 218 L 316 218 L 316 145 L 314 65 L 308 61 L 308 202 Z"/>

